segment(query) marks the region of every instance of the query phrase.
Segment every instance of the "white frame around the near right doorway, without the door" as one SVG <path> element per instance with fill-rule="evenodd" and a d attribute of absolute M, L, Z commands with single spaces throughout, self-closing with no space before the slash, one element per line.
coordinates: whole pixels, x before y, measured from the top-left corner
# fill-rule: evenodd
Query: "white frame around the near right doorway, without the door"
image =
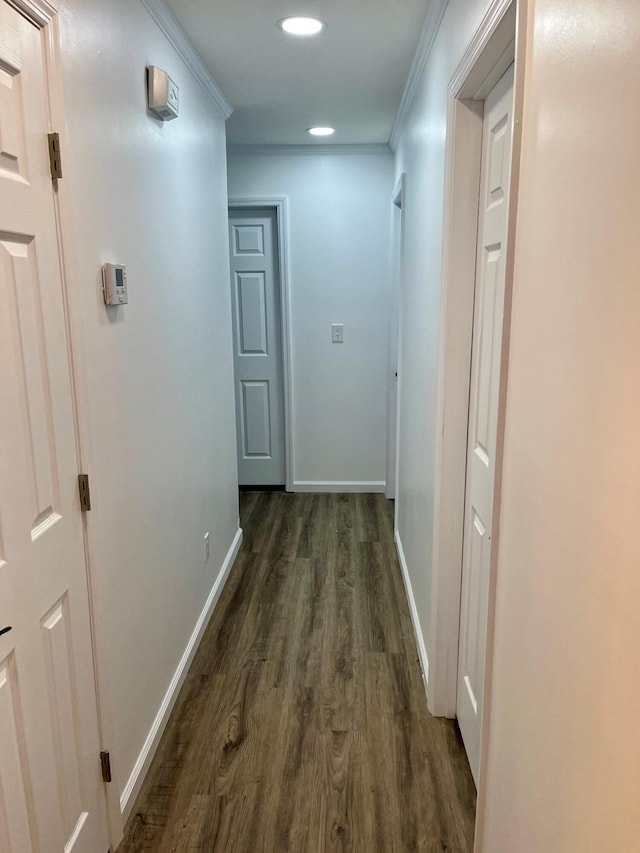
<path fill-rule="evenodd" d="M 525 2 L 526 0 L 494 0 L 458 65 L 448 91 L 429 705 L 431 711 L 438 716 L 455 717 L 483 100 L 515 60 L 513 160 L 507 229 L 502 369 L 491 531 L 492 556 L 480 788 L 484 780 L 486 723 L 491 701 L 490 678 L 506 367 L 511 325 L 522 116 L 524 48 L 522 39 L 525 28 L 518 24 L 519 18 L 524 13 Z"/>

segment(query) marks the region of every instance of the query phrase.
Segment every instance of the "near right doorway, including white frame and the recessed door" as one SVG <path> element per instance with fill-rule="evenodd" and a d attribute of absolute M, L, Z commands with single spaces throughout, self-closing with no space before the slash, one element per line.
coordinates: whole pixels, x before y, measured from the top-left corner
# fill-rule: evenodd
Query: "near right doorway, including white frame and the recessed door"
<path fill-rule="evenodd" d="M 522 74 L 518 69 L 524 45 L 518 41 L 517 10 L 517 0 L 494 0 L 451 78 L 448 93 L 429 704 L 435 715 L 458 717 L 461 728 L 466 728 L 465 745 L 479 795 L 489 737 L 520 150 Z M 503 112 L 491 125 L 485 121 L 497 97 L 491 93 L 496 84 L 509 88 L 505 73 L 510 68 L 512 92 L 502 95 L 513 105 L 511 115 Z M 491 129 L 498 144 L 487 150 L 489 140 L 483 145 L 483 132 L 490 137 Z M 483 217 L 498 211 L 500 234 L 485 241 L 479 231 Z M 480 275 L 483 265 L 488 288 Z M 483 312 L 493 316 L 493 327 L 484 336 L 480 332 Z M 486 369 L 479 368 L 483 358 Z M 476 442 L 481 423 L 484 434 Z M 479 499 L 469 500 L 467 488 L 473 489 L 472 477 L 467 477 L 473 467 L 467 464 L 468 451 L 478 460 L 482 455 L 476 453 L 476 444 L 484 446 L 491 470 L 485 480 L 482 513 L 479 505 L 474 508 Z M 474 544 L 481 547 L 474 551 Z M 460 707 L 463 700 L 468 703 L 466 709 Z M 467 723 L 474 721 L 472 737 L 465 717 Z"/>

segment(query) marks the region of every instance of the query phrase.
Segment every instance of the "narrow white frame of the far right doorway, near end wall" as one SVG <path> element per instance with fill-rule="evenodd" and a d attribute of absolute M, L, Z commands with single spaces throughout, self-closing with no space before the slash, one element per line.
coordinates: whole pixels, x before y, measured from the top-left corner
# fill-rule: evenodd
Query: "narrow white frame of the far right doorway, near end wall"
<path fill-rule="evenodd" d="M 400 436 L 398 427 L 400 425 L 400 353 L 402 348 L 402 281 L 404 275 L 404 194 L 406 185 L 406 173 L 403 172 L 394 187 L 391 195 L 391 204 L 394 207 L 392 227 L 392 270 L 393 277 L 393 292 L 391 298 L 393 304 L 391 306 L 392 323 L 395 323 L 395 330 L 389 329 L 389 385 L 395 382 L 395 409 L 391 405 L 391 394 L 388 395 L 387 403 L 387 476 L 385 482 L 385 496 L 387 498 L 396 498 L 398 495 L 398 458 L 399 458 L 399 443 Z M 397 223 L 397 225 L 396 225 Z M 394 314 L 395 311 L 395 314 Z M 395 341 L 394 341 L 395 332 Z M 395 345 L 394 345 L 395 344 Z M 394 351 L 395 350 L 395 351 Z M 395 376 L 392 374 L 395 372 Z M 393 431 L 392 431 L 393 427 Z M 389 488 L 389 472 L 390 466 L 393 466 L 393 493 Z M 397 502 L 396 511 L 394 512 L 394 527 L 397 529 Z"/>

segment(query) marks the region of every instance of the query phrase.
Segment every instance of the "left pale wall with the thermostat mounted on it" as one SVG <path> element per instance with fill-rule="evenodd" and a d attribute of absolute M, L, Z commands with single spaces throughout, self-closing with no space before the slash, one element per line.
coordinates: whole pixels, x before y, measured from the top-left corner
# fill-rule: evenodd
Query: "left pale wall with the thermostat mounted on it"
<path fill-rule="evenodd" d="M 61 11 L 88 523 L 121 792 L 238 527 L 225 129 L 141 3 Z M 173 122 L 147 114 L 148 64 L 180 86 Z M 104 261 L 127 265 L 124 308 L 105 309 Z"/>

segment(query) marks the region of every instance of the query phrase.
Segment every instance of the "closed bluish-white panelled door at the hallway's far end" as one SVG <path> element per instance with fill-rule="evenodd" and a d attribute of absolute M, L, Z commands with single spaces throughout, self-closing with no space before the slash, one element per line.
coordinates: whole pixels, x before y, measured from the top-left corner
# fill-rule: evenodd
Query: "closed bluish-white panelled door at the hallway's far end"
<path fill-rule="evenodd" d="M 275 210 L 229 212 L 241 486 L 285 485 L 282 320 Z"/>

